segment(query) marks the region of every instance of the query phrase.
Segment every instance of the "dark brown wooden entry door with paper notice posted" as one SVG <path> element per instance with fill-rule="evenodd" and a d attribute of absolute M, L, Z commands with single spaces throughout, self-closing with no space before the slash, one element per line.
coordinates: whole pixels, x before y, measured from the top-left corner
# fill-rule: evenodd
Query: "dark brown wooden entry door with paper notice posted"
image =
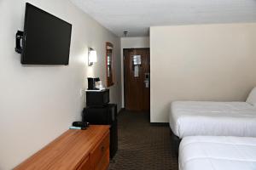
<path fill-rule="evenodd" d="M 139 60 L 141 60 L 141 63 L 137 63 Z M 149 48 L 124 49 L 124 85 L 126 110 L 149 111 L 149 61 Z"/>

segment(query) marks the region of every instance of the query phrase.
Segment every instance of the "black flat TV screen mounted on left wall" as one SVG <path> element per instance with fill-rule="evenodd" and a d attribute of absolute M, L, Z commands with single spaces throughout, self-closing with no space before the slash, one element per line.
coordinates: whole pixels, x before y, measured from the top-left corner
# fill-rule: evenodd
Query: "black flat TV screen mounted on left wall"
<path fill-rule="evenodd" d="M 21 64 L 68 65 L 72 25 L 26 3 Z"/>

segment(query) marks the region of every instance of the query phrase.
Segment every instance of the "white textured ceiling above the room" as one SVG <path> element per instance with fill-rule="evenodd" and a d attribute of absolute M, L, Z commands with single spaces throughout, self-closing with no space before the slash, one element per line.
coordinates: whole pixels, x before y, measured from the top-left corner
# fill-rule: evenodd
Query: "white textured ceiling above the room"
<path fill-rule="evenodd" d="M 148 36 L 150 26 L 256 21 L 256 0 L 71 1 L 119 37 Z"/>

